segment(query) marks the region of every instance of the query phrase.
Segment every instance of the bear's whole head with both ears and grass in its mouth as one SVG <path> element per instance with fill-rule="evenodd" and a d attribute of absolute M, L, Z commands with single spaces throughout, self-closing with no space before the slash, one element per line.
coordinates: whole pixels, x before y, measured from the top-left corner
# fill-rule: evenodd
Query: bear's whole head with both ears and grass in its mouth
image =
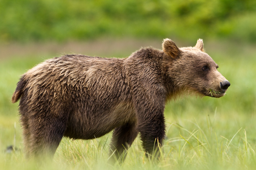
<path fill-rule="evenodd" d="M 216 98 L 225 95 L 230 83 L 217 70 L 219 66 L 204 52 L 202 39 L 197 40 L 195 47 L 184 48 L 178 48 L 172 40 L 164 39 L 162 48 L 166 73 L 180 91 L 193 91 Z"/>

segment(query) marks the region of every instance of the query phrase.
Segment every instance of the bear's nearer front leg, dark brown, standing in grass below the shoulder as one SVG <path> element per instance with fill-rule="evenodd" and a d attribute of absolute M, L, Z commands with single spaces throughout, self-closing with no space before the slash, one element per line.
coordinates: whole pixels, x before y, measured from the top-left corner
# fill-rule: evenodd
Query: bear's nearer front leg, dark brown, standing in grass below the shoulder
<path fill-rule="evenodd" d="M 162 146 L 165 136 L 165 98 L 161 95 L 154 96 L 154 98 L 144 97 L 137 100 L 134 105 L 138 119 L 137 128 L 140 132 L 142 146 L 147 156 L 156 158 L 159 156 L 158 145 L 160 147 Z"/>

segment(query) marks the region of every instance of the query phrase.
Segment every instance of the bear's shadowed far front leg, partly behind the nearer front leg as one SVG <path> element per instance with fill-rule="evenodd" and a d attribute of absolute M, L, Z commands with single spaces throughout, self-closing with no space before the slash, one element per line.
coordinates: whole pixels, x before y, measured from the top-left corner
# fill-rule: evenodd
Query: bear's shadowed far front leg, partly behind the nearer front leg
<path fill-rule="evenodd" d="M 126 123 L 125 125 L 116 128 L 113 132 L 112 142 L 109 150 L 111 160 L 123 162 L 126 156 L 125 152 L 131 146 L 132 142 L 137 136 L 138 131 L 134 122 Z"/>

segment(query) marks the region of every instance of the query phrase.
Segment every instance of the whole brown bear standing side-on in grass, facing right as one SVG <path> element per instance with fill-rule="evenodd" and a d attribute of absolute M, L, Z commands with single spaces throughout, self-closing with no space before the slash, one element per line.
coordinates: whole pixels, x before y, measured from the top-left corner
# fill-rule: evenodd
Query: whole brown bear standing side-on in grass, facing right
<path fill-rule="evenodd" d="M 163 144 L 168 100 L 187 92 L 225 95 L 230 83 L 201 39 L 186 48 L 164 39 L 162 48 L 128 58 L 64 55 L 28 70 L 12 96 L 20 99 L 26 155 L 53 156 L 62 137 L 93 139 L 113 129 L 110 155 L 124 156 L 138 133 L 150 155 Z"/>

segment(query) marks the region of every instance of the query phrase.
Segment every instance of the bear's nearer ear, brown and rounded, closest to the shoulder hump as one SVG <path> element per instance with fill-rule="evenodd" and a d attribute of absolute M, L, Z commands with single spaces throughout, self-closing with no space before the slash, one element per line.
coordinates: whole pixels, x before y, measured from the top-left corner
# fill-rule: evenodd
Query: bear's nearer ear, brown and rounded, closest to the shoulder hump
<path fill-rule="evenodd" d="M 164 53 L 171 56 L 172 58 L 176 58 L 180 54 L 180 49 L 172 40 L 168 38 L 164 39 L 162 48 Z"/>

